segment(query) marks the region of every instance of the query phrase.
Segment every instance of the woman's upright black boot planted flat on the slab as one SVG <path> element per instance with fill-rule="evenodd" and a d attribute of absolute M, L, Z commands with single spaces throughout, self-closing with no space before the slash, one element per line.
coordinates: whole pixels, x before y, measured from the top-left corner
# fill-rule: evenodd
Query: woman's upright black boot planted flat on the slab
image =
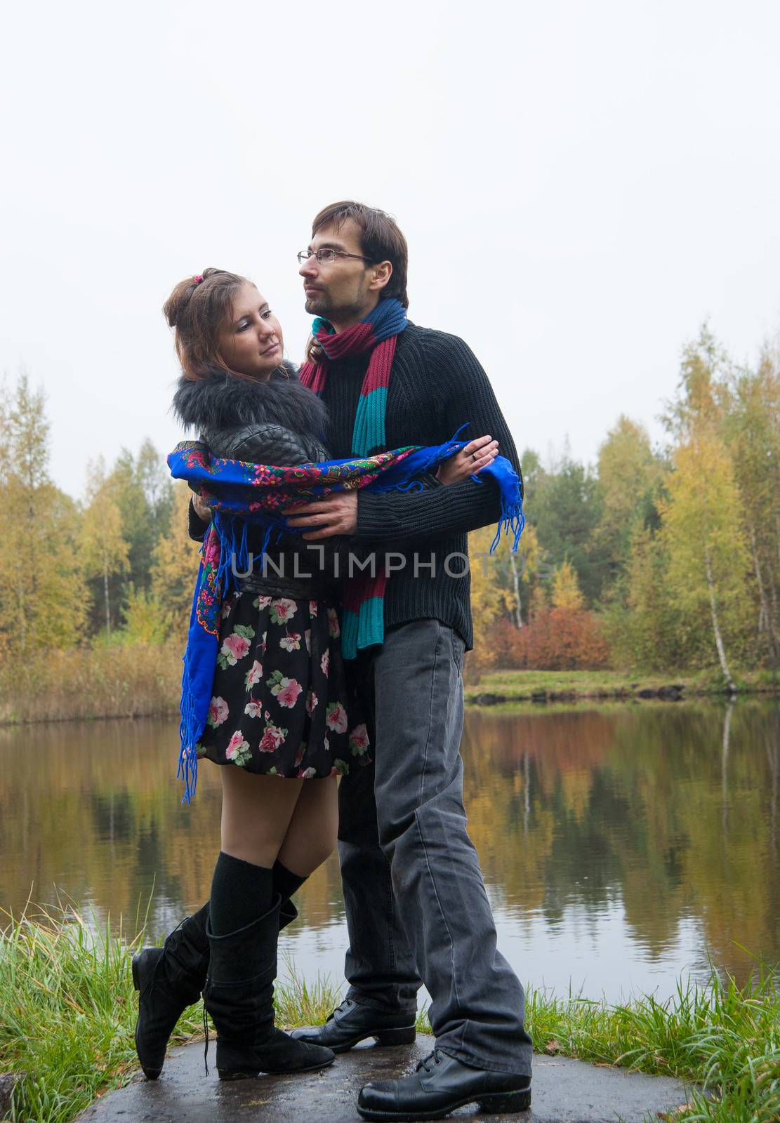
<path fill-rule="evenodd" d="M 241 1080 L 260 1072 L 309 1072 L 335 1060 L 330 1049 L 293 1041 L 273 1024 L 279 906 L 246 928 L 214 935 L 203 1003 L 217 1028 L 220 1080 Z"/>

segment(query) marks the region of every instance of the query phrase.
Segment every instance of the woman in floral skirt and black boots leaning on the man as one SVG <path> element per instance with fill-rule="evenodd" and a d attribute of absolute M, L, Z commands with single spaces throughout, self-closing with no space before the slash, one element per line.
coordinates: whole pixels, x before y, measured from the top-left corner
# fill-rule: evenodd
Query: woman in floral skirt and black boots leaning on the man
<path fill-rule="evenodd" d="M 164 313 L 183 372 L 174 410 L 214 456 L 272 465 L 328 459 L 324 405 L 283 362 L 281 327 L 254 284 L 206 270 L 176 285 Z M 439 467 L 439 482 L 464 480 L 495 455 L 495 441 L 472 441 Z M 200 513 L 208 510 L 200 505 Z M 218 1031 L 220 1079 L 307 1071 L 334 1060 L 329 1049 L 274 1028 L 273 979 L 280 928 L 296 915 L 290 898 L 335 846 L 337 775 L 370 758 L 342 661 L 338 546 L 312 551 L 288 535 L 263 550 L 265 536 L 252 526 L 247 545 L 267 564 L 238 578 L 223 605 L 198 747 L 224 766 L 211 897 L 164 948 L 133 960 L 140 992 L 136 1048 L 149 1079 L 201 989 Z"/>

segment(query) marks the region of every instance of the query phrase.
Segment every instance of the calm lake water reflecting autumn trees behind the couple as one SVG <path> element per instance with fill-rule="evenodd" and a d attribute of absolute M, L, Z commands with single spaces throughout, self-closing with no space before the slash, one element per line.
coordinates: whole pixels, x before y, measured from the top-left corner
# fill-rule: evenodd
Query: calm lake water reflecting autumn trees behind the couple
<path fill-rule="evenodd" d="M 466 713 L 469 830 L 499 946 L 521 980 L 619 999 L 670 995 L 708 962 L 740 980 L 780 964 L 780 704 L 643 703 Z M 154 933 L 208 895 L 219 782 L 192 806 L 175 721 L 0 730 L 0 907 L 76 902 Z M 139 904 L 140 903 L 140 904 Z M 332 858 L 281 938 L 341 982 L 346 926 Z"/>

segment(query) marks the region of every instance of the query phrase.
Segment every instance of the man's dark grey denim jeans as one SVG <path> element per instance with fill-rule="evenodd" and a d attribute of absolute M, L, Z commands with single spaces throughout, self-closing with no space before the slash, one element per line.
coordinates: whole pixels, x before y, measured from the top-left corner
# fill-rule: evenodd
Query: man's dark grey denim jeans
<path fill-rule="evenodd" d="M 525 996 L 496 925 L 463 810 L 463 641 L 438 620 L 388 631 L 355 682 L 373 765 L 339 787 L 348 997 L 416 1010 L 424 980 L 444 1052 L 530 1075 Z"/>

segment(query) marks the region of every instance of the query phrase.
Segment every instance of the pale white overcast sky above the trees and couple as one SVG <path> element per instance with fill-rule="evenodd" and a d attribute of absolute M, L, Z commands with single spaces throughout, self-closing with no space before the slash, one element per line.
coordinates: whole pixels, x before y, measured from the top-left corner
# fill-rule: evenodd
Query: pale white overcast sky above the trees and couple
<path fill-rule="evenodd" d="M 744 362 L 780 328 L 779 44 L 776 0 L 8 6 L 0 372 L 45 387 L 55 481 L 180 438 L 183 276 L 252 277 L 300 359 L 294 255 L 342 198 L 397 217 L 410 318 L 518 448 L 660 438 L 702 320 Z"/>

